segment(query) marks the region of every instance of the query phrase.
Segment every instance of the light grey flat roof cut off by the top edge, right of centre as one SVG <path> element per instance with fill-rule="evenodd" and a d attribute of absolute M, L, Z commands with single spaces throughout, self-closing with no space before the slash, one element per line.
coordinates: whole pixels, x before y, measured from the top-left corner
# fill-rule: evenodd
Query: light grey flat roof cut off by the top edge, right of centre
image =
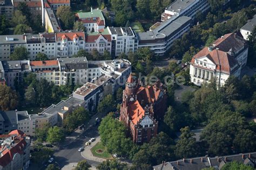
<path fill-rule="evenodd" d="M 168 6 L 165 10 L 180 13 L 186 9 L 189 5 L 193 4 L 197 0 L 177 0 L 173 2 L 170 6 Z"/>

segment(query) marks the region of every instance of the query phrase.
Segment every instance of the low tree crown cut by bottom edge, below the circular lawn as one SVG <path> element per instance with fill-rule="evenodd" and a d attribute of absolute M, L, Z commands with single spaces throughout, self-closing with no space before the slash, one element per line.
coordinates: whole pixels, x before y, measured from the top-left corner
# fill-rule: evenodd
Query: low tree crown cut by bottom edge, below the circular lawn
<path fill-rule="evenodd" d="M 97 169 L 99 170 L 111 170 L 111 169 L 116 169 L 116 170 L 125 170 L 129 169 L 127 164 L 119 162 L 117 159 L 113 160 L 106 160 L 100 163 L 97 166 Z"/>

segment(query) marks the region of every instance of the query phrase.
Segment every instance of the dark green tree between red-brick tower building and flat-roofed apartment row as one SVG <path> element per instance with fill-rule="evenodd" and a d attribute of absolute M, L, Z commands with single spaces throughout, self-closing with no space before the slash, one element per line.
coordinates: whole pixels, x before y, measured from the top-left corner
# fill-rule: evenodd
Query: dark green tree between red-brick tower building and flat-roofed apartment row
<path fill-rule="evenodd" d="M 99 113 L 107 113 L 114 110 L 114 99 L 112 95 L 107 95 L 102 101 L 100 101 L 97 111 Z"/>

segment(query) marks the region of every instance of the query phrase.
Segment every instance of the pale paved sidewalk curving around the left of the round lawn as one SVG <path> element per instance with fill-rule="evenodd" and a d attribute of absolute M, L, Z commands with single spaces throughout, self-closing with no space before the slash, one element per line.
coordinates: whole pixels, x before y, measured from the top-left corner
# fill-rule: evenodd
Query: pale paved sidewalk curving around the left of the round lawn
<path fill-rule="evenodd" d="M 85 146 L 84 151 L 81 152 L 82 157 L 85 158 L 85 159 L 92 160 L 92 161 L 97 161 L 97 162 L 105 161 L 106 159 L 98 158 L 98 157 L 93 156 L 93 154 L 91 152 L 91 148 L 93 146 L 95 146 L 99 141 L 100 141 L 100 137 L 98 136 L 98 137 L 95 138 L 95 141 L 93 141 L 91 145 Z"/>

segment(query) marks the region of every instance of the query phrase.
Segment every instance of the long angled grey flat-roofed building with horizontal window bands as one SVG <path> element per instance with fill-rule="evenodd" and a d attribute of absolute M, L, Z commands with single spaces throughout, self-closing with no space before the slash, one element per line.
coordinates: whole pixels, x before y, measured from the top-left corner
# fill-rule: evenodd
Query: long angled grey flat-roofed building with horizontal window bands
<path fill-rule="evenodd" d="M 149 47 L 156 55 L 163 56 L 170 49 L 174 40 L 180 38 L 190 29 L 191 22 L 190 17 L 176 16 L 160 23 L 152 31 L 138 32 L 138 47 Z"/>

